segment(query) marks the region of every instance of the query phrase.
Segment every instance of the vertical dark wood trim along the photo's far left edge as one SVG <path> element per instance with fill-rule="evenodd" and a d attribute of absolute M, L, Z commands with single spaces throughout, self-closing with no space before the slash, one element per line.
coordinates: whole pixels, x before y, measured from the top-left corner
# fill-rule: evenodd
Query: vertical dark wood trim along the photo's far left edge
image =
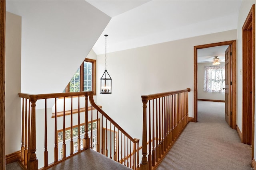
<path fill-rule="evenodd" d="M 5 22 L 6 1 L 0 1 L 0 169 L 5 170 Z"/>

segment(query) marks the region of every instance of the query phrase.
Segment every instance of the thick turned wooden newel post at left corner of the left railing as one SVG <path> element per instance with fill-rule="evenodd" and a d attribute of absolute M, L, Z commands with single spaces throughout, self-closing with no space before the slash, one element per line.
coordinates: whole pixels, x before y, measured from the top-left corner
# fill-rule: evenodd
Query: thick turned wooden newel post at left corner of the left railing
<path fill-rule="evenodd" d="M 38 160 L 36 158 L 36 96 L 30 96 L 31 102 L 31 130 L 28 156 L 28 170 L 38 170 Z"/>

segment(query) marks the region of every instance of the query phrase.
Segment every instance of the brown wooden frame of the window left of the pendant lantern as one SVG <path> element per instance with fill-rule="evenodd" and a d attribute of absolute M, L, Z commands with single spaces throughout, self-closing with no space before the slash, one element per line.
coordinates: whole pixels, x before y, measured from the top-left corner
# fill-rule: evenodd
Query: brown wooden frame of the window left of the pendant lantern
<path fill-rule="evenodd" d="M 96 95 L 96 60 L 84 59 L 85 62 L 92 63 L 92 91 L 93 95 Z M 84 90 L 84 61 L 80 65 L 80 92 Z M 66 86 L 65 92 L 70 92 L 70 82 Z"/>

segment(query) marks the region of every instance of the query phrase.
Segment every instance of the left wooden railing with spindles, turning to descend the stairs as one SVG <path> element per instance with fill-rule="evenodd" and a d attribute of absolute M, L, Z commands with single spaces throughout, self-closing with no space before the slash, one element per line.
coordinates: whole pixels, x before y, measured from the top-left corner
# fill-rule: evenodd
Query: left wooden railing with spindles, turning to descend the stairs
<path fill-rule="evenodd" d="M 38 169 L 36 149 L 38 152 L 43 152 L 42 169 L 47 169 L 89 148 L 132 169 L 139 168 L 139 139 L 128 135 L 95 104 L 93 92 L 38 95 L 20 93 L 19 96 L 22 98 L 21 161 L 28 170 Z M 74 100 L 74 96 L 78 98 Z M 63 102 L 58 103 L 58 98 Z M 91 106 L 88 106 L 88 98 Z M 51 118 L 52 109 L 47 109 L 47 104 L 52 100 L 55 103 L 54 118 Z M 36 108 L 38 101 L 41 105 L 43 103 L 43 109 Z M 71 109 L 67 109 L 69 106 Z M 75 110 L 74 106 L 78 107 L 76 108 L 78 111 L 72 113 Z M 63 116 L 57 117 L 59 108 L 62 108 Z M 66 112 L 69 114 L 66 115 Z M 42 119 L 38 120 L 38 117 Z M 42 131 L 36 131 L 36 127 L 38 128 L 36 123 L 44 124 Z M 44 141 L 44 147 L 36 148 L 36 138 Z"/>

